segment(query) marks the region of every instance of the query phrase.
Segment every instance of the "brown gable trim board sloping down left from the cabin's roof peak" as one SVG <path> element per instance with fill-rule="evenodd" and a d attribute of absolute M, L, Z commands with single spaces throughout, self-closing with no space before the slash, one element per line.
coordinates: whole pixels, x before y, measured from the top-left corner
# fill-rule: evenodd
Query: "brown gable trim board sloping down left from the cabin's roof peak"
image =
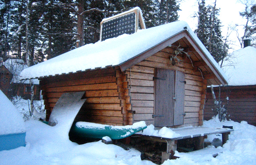
<path fill-rule="evenodd" d="M 180 40 L 181 38 L 185 37 L 187 30 L 183 30 L 180 33 L 177 33 L 171 37 L 169 37 L 167 40 L 160 42 L 159 44 L 153 46 L 152 48 L 140 53 L 139 55 L 127 60 L 126 62 L 120 64 L 121 71 L 126 71 L 131 66 L 141 62 L 142 60 L 154 55 L 155 53 L 159 52 L 160 50 L 166 48 L 167 46 L 170 46 L 174 42 Z"/>

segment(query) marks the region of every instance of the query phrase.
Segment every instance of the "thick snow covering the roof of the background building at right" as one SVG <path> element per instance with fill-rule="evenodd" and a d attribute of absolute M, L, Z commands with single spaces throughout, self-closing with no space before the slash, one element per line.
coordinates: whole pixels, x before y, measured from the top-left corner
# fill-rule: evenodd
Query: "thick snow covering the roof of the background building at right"
<path fill-rule="evenodd" d="M 223 61 L 222 69 L 228 76 L 228 85 L 256 85 L 256 48 L 247 46 L 231 53 Z"/>

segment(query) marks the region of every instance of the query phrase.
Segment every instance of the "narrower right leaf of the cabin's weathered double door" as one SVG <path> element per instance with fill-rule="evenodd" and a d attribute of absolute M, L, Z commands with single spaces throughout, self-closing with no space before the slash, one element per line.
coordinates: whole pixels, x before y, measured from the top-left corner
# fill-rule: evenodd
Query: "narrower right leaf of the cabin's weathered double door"
<path fill-rule="evenodd" d="M 174 94 L 174 117 L 173 125 L 183 124 L 184 118 L 184 96 L 185 96 L 185 78 L 184 73 L 175 71 L 175 94 Z"/>

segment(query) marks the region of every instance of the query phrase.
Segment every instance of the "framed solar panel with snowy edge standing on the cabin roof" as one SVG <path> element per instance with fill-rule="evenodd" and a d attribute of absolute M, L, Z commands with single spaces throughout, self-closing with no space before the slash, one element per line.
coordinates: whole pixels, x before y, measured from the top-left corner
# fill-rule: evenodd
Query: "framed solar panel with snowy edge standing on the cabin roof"
<path fill-rule="evenodd" d="M 100 23 L 100 41 L 114 38 L 122 34 L 136 33 L 139 28 L 139 22 L 141 28 L 146 29 L 139 7 L 103 19 Z"/>

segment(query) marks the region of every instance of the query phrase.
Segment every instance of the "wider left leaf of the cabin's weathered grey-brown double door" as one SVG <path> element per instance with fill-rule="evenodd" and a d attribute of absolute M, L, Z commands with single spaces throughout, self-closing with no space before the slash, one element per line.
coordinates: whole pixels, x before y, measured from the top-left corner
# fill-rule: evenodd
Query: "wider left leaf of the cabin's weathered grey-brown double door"
<path fill-rule="evenodd" d="M 173 126 L 175 71 L 156 68 L 155 126 Z"/>

